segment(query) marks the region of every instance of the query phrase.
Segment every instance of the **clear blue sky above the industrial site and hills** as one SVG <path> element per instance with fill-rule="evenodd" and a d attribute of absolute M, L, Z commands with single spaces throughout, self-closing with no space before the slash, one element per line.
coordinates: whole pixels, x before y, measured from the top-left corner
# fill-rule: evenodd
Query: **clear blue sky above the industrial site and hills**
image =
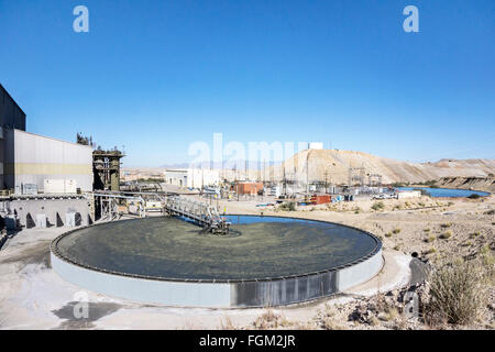
<path fill-rule="evenodd" d="M 124 166 L 185 162 L 213 132 L 495 158 L 495 1 L 0 0 L 0 82 L 30 132 L 125 145 Z"/>

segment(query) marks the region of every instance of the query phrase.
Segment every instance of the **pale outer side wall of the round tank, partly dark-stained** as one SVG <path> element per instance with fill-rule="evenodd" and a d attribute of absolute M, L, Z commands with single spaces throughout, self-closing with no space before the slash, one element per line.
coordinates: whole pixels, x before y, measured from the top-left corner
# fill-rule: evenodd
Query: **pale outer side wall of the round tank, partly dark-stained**
<path fill-rule="evenodd" d="M 58 254 L 58 239 L 52 243 L 52 267 L 64 279 L 105 295 L 177 307 L 239 308 L 297 304 L 362 284 L 378 274 L 383 266 L 382 245 L 377 240 L 375 251 L 360 261 L 297 277 L 226 282 L 148 279 L 72 263 Z"/>

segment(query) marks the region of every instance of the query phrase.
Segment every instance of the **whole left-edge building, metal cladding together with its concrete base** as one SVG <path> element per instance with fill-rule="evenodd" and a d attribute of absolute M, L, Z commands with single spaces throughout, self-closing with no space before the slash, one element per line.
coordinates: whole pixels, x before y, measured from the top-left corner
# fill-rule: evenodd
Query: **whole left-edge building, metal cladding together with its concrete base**
<path fill-rule="evenodd" d="M 92 223 L 91 201 L 75 195 L 92 191 L 92 148 L 25 125 L 25 113 L 0 85 L 1 222 L 10 231 Z"/>

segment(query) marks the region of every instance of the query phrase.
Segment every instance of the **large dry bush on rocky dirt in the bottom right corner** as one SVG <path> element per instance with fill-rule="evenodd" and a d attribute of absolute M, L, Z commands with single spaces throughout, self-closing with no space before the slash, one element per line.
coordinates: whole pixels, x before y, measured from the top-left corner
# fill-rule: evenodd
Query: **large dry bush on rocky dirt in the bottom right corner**
<path fill-rule="evenodd" d="M 430 324 L 469 324 L 476 320 L 486 298 L 486 271 L 477 261 L 444 263 L 429 275 L 425 318 Z"/>

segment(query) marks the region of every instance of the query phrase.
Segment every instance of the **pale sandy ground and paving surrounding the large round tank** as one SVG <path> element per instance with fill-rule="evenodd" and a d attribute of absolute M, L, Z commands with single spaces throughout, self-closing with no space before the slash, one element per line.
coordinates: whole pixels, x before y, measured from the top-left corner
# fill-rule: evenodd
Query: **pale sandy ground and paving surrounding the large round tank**
<path fill-rule="evenodd" d="M 403 311 L 405 295 L 425 288 L 415 266 L 435 265 L 442 257 L 470 257 L 495 246 L 493 196 L 362 199 L 296 211 L 256 207 L 267 201 L 220 201 L 219 206 L 228 213 L 319 219 L 367 230 L 383 240 L 382 273 L 337 297 L 289 307 L 227 310 L 143 305 L 63 280 L 50 267 L 48 246 L 67 229 L 30 229 L 0 251 L 0 329 L 430 329 Z M 413 258 L 414 253 L 420 261 Z M 89 300 L 89 317 L 84 319 L 74 315 L 81 293 Z M 492 287 L 481 319 L 469 327 L 447 328 L 494 329 L 494 301 Z"/>

